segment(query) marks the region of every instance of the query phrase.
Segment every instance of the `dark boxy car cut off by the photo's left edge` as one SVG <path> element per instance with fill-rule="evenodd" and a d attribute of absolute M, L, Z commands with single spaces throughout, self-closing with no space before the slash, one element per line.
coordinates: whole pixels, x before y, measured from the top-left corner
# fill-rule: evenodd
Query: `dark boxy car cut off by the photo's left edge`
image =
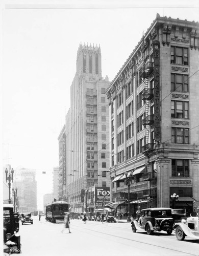
<path fill-rule="evenodd" d="M 20 253 L 19 214 L 14 214 L 13 204 L 4 204 L 4 244 L 10 253 Z"/>

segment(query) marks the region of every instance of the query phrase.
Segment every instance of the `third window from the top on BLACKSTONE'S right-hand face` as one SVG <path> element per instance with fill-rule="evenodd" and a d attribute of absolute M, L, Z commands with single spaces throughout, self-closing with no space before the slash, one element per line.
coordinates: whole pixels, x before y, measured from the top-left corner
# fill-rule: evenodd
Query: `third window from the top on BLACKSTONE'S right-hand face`
<path fill-rule="evenodd" d="M 171 100 L 171 117 L 188 118 L 189 102 Z"/>

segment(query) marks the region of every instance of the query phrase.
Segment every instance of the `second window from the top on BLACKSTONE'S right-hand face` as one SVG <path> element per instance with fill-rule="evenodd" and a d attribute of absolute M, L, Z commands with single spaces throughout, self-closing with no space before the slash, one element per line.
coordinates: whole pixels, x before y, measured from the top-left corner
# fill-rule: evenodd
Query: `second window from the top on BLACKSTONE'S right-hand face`
<path fill-rule="evenodd" d="M 171 91 L 188 92 L 188 75 L 171 74 Z"/>

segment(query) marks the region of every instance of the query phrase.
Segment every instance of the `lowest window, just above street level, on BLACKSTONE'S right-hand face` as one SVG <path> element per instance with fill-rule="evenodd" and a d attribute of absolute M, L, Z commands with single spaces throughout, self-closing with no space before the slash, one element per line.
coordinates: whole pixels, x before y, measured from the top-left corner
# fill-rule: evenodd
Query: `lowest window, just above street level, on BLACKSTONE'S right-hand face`
<path fill-rule="evenodd" d="M 172 177 L 189 177 L 189 160 L 172 159 Z"/>

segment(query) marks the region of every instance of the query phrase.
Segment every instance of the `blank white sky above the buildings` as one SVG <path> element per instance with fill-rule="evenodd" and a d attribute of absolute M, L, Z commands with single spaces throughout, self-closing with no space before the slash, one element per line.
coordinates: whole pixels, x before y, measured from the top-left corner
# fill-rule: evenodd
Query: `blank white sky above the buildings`
<path fill-rule="evenodd" d="M 102 74 L 111 81 L 157 13 L 196 22 L 199 1 L 28 3 L 1 3 L 2 167 L 35 169 L 41 206 L 59 165 L 58 136 L 70 107 L 80 43 L 101 46 Z"/>

